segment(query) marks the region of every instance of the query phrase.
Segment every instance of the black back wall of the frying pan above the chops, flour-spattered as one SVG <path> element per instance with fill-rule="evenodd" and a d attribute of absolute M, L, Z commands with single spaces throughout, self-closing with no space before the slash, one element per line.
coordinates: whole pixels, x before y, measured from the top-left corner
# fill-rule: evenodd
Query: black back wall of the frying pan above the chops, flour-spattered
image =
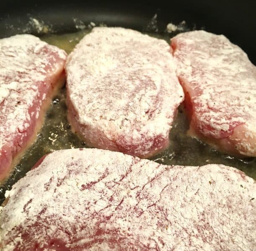
<path fill-rule="evenodd" d="M 96 25 L 104 23 L 107 26 L 122 26 L 163 35 L 167 33 L 168 23 L 179 24 L 185 21 L 185 31 L 203 28 L 212 33 L 224 34 L 231 42 L 240 46 L 253 64 L 256 64 L 255 11 L 256 1 L 253 0 L 137 0 L 128 3 L 1 0 L 0 38 L 18 33 L 31 33 L 36 36 L 42 36 L 47 32 L 71 33 L 91 22 Z M 40 20 L 49 29 L 39 29 L 31 20 Z M 36 159 L 33 161 L 36 162 Z M 253 161 L 255 165 L 255 159 Z M 4 188 L 0 187 L 0 203 L 4 190 L 10 189 L 12 183 Z"/>

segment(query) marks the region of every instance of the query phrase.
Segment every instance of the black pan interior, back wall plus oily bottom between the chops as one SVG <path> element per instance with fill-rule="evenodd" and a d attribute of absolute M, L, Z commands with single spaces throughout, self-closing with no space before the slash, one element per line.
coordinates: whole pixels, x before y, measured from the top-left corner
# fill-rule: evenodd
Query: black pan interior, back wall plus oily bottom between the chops
<path fill-rule="evenodd" d="M 214 33 L 223 33 L 233 43 L 242 47 L 251 61 L 256 63 L 253 1 L 248 1 L 246 7 L 236 3 L 230 5 L 225 1 L 221 4 L 219 1 L 181 1 L 169 5 L 160 2 L 152 5 L 137 2 L 127 6 L 106 4 L 103 1 L 55 1 L 54 5 L 42 1 L 36 4 L 30 1 L 22 4 L 20 1 L 6 1 L 0 5 L 1 37 L 32 33 L 49 44 L 65 49 L 67 53 L 94 25 L 133 28 L 168 42 L 178 32 L 204 28 Z M 168 32 L 168 23 L 175 24 L 177 31 Z M 5 190 L 10 190 L 12 184 L 23 177 L 44 154 L 58 149 L 86 147 L 86 143 L 71 132 L 66 115 L 63 88 L 59 95 L 54 97 L 36 142 L 28 149 L 8 181 L 0 187 L 0 202 L 4 199 Z M 225 164 L 237 167 L 256 179 L 255 158 L 238 159 L 221 154 L 207 144 L 187 136 L 188 128 L 189 122 L 181 105 L 170 133 L 170 147 L 152 159 L 159 163 L 178 165 Z"/>

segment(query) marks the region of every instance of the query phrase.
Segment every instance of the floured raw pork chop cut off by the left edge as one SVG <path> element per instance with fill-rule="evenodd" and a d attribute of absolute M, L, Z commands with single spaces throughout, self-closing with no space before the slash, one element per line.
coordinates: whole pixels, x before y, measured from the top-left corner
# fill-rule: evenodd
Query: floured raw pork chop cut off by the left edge
<path fill-rule="evenodd" d="M 64 83 L 66 54 L 35 36 L 17 35 L 0 39 L 0 59 L 1 180 L 33 141 L 54 90 Z"/>

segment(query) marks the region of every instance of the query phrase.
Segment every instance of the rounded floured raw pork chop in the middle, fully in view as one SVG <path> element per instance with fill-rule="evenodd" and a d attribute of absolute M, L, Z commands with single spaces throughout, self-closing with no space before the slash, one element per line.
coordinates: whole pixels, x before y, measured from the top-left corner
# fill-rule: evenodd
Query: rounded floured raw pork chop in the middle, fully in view
<path fill-rule="evenodd" d="M 94 28 L 68 56 L 68 118 L 89 146 L 148 157 L 168 146 L 184 93 L 170 46 L 124 28 Z"/>

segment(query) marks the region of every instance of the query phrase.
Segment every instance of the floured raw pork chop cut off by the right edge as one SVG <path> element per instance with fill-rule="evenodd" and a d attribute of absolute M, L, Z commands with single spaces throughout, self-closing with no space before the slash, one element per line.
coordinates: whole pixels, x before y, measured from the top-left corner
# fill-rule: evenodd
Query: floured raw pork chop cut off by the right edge
<path fill-rule="evenodd" d="M 222 151 L 256 156 L 256 67 L 223 35 L 171 39 L 191 134 Z"/>

